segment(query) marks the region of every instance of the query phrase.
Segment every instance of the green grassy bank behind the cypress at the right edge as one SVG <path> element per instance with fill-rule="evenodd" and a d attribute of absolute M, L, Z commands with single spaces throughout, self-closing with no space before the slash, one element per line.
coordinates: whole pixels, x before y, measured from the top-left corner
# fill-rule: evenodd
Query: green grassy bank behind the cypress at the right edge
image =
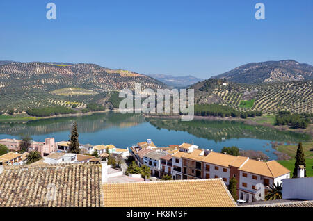
<path fill-rule="evenodd" d="M 305 163 L 307 165 L 307 177 L 313 177 L 313 142 L 303 142 L 302 144 L 303 152 L 305 153 Z M 287 167 L 292 172 L 294 171 L 294 163 L 296 161 L 296 151 L 298 145 L 280 145 L 277 147 L 279 152 L 288 154 L 293 159 L 289 161 L 278 161 L 284 167 Z"/>

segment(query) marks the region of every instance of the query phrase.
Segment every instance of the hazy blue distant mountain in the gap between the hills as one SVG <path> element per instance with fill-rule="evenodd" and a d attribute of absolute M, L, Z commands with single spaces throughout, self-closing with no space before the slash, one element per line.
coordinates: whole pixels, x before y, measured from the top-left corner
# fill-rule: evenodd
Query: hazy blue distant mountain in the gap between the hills
<path fill-rule="evenodd" d="M 187 87 L 189 85 L 193 85 L 194 83 L 198 83 L 199 81 L 203 81 L 204 79 L 198 79 L 195 76 L 172 76 L 166 74 L 150 74 L 154 79 L 157 79 L 168 86 L 172 87 Z"/>

